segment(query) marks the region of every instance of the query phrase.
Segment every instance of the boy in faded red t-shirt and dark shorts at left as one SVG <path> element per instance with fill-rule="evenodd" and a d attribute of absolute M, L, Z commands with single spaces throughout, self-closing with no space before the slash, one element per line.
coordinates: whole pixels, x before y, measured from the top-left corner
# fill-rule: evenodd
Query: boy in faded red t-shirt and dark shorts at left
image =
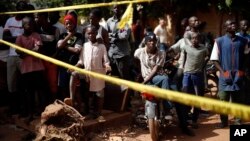
<path fill-rule="evenodd" d="M 30 17 L 25 17 L 22 20 L 23 22 L 23 35 L 20 35 L 16 39 L 16 44 L 18 46 L 30 49 L 32 51 L 38 52 L 39 48 L 42 46 L 42 40 L 38 33 L 34 32 L 34 20 Z M 16 50 L 20 54 L 21 60 L 21 74 L 23 80 L 24 90 L 26 92 L 26 106 L 28 118 L 31 120 L 35 112 L 35 92 L 42 90 L 44 85 L 43 81 L 43 71 L 44 66 L 42 60 L 39 58 L 33 57 L 28 54 L 24 54 Z M 41 98 L 41 97 L 40 97 Z M 41 100 L 41 99 L 40 99 Z M 41 101 L 40 101 L 41 102 Z M 44 102 L 44 101 L 43 101 Z M 40 103 L 40 106 L 45 103 Z M 40 107 L 44 108 L 44 107 Z M 42 110 L 42 109 L 40 109 Z"/>

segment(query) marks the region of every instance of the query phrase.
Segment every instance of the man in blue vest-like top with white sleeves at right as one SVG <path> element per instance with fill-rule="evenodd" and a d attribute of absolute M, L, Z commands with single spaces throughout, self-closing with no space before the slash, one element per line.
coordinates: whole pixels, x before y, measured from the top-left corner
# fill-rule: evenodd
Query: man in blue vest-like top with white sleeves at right
<path fill-rule="evenodd" d="M 220 71 L 218 96 L 222 101 L 242 103 L 242 82 L 244 77 L 245 54 L 249 53 L 247 40 L 236 36 L 236 23 L 227 20 L 224 24 L 226 34 L 215 40 L 210 60 Z M 228 115 L 220 115 L 218 128 L 228 126 Z M 241 124 L 235 119 L 235 124 Z"/>

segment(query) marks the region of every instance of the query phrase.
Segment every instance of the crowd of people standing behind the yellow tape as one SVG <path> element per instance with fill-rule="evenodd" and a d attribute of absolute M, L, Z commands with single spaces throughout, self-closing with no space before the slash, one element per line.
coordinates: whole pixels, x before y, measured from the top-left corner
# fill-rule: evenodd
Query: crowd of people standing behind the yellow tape
<path fill-rule="evenodd" d="M 16 4 L 17 11 L 30 9 L 34 8 L 24 1 Z M 218 98 L 250 104 L 247 96 L 250 92 L 247 87 L 250 83 L 247 20 L 240 21 L 240 30 L 234 20 L 227 20 L 225 35 L 211 42 L 202 33 L 199 19 L 191 16 L 182 21 L 181 38 L 170 45 L 164 18 L 159 18 L 159 25 L 154 30 L 150 26 L 141 26 L 140 20 L 136 20 L 132 28 L 126 24 L 119 29 L 117 25 L 123 9 L 114 5 L 112 10 L 113 16 L 102 26 L 99 24 L 102 11 L 91 9 L 89 23 L 84 27 L 78 24 L 74 10 L 66 11 L 63 23 L 59 22 L 59 12 L 17 14 L 1 25 L 0 37 L 89 71 L 197 96 L 204 96 L 207 89 L 205 66 L 211 60 L 220 72 Z M 166 62 L 171 57 L 178 61 L 170 66 L 174 71 L 169 73 L 166 72 Z M 99 122 L 105 121 L 102 116 L 105 81 L 3 44 L 0 45 L 0 63 L 1 95 L 5 93 L 7 96 L 10 115 L 19 114 L 32 120 L 46 105 L 61 99 L 82 114 Z M 129 92 L 133 94 L 133 91 Z M 143 98 L 146 100 L 145 114 L 151 122 L 150 119 L 157 115 L 159 101 L 147 95 Z M 164 104 L 166 113 L 176 109 L 179 127 L 183 133 L 193 136 L 188 120 L 192 120 L 193 128 L 198 128 L 201 109 L 193 108 L 190 117 L 192 107 L 167 100 L 162 102 L 167 103 Z M 228 116 L 221 115 L 220 119 L 218 127 L 227 127 Z M 235 117 L 235 124 L 241 124 L 240 118 Z"/>

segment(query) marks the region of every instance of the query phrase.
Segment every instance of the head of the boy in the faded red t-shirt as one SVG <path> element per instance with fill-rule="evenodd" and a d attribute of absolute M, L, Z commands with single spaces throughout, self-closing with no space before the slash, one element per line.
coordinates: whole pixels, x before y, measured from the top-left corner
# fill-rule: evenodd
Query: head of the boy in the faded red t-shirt
<path fill-rule="evenodd" d="M 23 29 L 25 35 L 30 35 L 34 31 L 35 22 L 31 17 L 24 17 L 23 21 Z"/>

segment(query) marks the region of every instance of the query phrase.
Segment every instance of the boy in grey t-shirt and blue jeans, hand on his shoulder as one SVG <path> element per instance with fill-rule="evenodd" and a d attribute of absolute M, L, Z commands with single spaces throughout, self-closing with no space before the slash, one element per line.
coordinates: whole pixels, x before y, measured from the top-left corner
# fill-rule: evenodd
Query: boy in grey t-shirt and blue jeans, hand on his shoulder
<path fill-rule="evenodd" d="M 208 56 L 206 47 L 200 44 L 200 34 L 193 32 L 191 35 L 191 45 L 184 45 L 182 50 L 186 54 L 184 63 L 184 77 L 182 80 L 182 90 L 186 93 L 193 93 L 198 96 L 204 95 L 203 66 L 205 58 Z M 170 50 L 181 51 L 180 46 L 172 46 Z M 188 111 L 184 111 L 188 112 Z M 197 128 L 197 120 L 200 113 L 199 108 L 194 108 L 192 115 L 192 126 Z"/>

